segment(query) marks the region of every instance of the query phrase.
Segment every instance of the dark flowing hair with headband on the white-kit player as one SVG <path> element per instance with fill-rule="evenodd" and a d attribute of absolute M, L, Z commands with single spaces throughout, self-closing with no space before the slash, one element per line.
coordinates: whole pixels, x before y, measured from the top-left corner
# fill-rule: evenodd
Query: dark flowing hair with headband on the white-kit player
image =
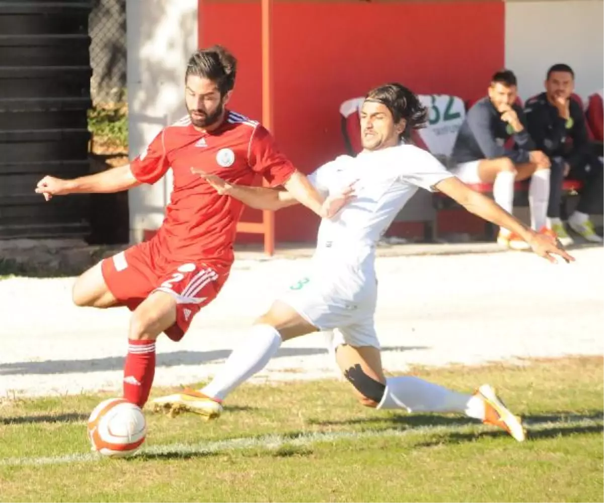
<path fill-rule="evenodd" d="M 390 83 L 371 89 L 365 96 L 365 101 L 382 103 L 394 119 L 394 123 L 405 119 L 405 130 L 401 138 L 409 138 L 411 130 L 422 129 L 428 123 L 428 110 L 422 105 L 419 98 L 405 86 L 399 83 Z"/>

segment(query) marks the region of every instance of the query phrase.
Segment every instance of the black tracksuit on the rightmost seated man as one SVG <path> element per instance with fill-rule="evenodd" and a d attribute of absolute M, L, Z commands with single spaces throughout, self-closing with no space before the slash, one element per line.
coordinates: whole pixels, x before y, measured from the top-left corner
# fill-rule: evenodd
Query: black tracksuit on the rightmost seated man
<path fill-rule="evenodd" d="M 577 211 L 600 213 L 604 198 L 604 170 L 593 143 L 587 135 L 585 115 L 579 103 L 570 100 L 571 121 L 560 117 L 545 92 L 527 101 L 525 113 L 528 133 L 551 160 L 550 200 L 547 216 L 560 217 L 564 165 L 570 166 L 568 178 L 583 183 Z"/>

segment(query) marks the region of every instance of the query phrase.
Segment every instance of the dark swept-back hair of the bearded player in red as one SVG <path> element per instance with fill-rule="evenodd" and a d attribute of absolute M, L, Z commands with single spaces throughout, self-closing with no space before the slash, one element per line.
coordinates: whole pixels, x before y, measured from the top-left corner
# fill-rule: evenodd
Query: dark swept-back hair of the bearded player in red
<path fill-rule="evenodd" d="M 223 96 L 233 89 L 236 74 L 237 60 L 233 54 L 220 45 L 213 45 L 196 51 L 189 58 L 185 82 L 189 75 L 207 78 L 216 83 Z"/>

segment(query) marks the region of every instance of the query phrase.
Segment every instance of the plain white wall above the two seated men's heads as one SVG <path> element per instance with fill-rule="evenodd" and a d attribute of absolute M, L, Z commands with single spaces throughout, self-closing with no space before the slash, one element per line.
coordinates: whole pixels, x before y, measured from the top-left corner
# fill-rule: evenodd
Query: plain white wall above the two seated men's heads
<path fill-rule="evenodd" d="M 543 91 L 554 63 L 573 68 L 584 100 L 604 88 L 604 1 L 506 3 L 506 66 L 518 77 L 524 100 Z"/>

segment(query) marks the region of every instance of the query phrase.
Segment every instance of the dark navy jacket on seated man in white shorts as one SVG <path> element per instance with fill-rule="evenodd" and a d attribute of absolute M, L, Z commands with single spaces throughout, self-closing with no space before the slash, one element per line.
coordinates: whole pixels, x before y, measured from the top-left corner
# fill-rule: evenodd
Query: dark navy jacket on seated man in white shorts
<path fill-rule="evenodd" d="M 516 104 L 512 108 L 526 128 L 527 123 L 522 108 Z M 514 145 L 506 146 L 510 138 L 513 138 Z M 486 97 L 477 101 L 467 111 L 455 139 L 451 158 L 455 164 L 460 164 L 480 159 L 507 157 L 514 164 L 522 164 L 528 162 L 531 150 L 536 149 L 527 130 L 514 133 L 512 127 L 501 120 L 501 114 Z"/>

